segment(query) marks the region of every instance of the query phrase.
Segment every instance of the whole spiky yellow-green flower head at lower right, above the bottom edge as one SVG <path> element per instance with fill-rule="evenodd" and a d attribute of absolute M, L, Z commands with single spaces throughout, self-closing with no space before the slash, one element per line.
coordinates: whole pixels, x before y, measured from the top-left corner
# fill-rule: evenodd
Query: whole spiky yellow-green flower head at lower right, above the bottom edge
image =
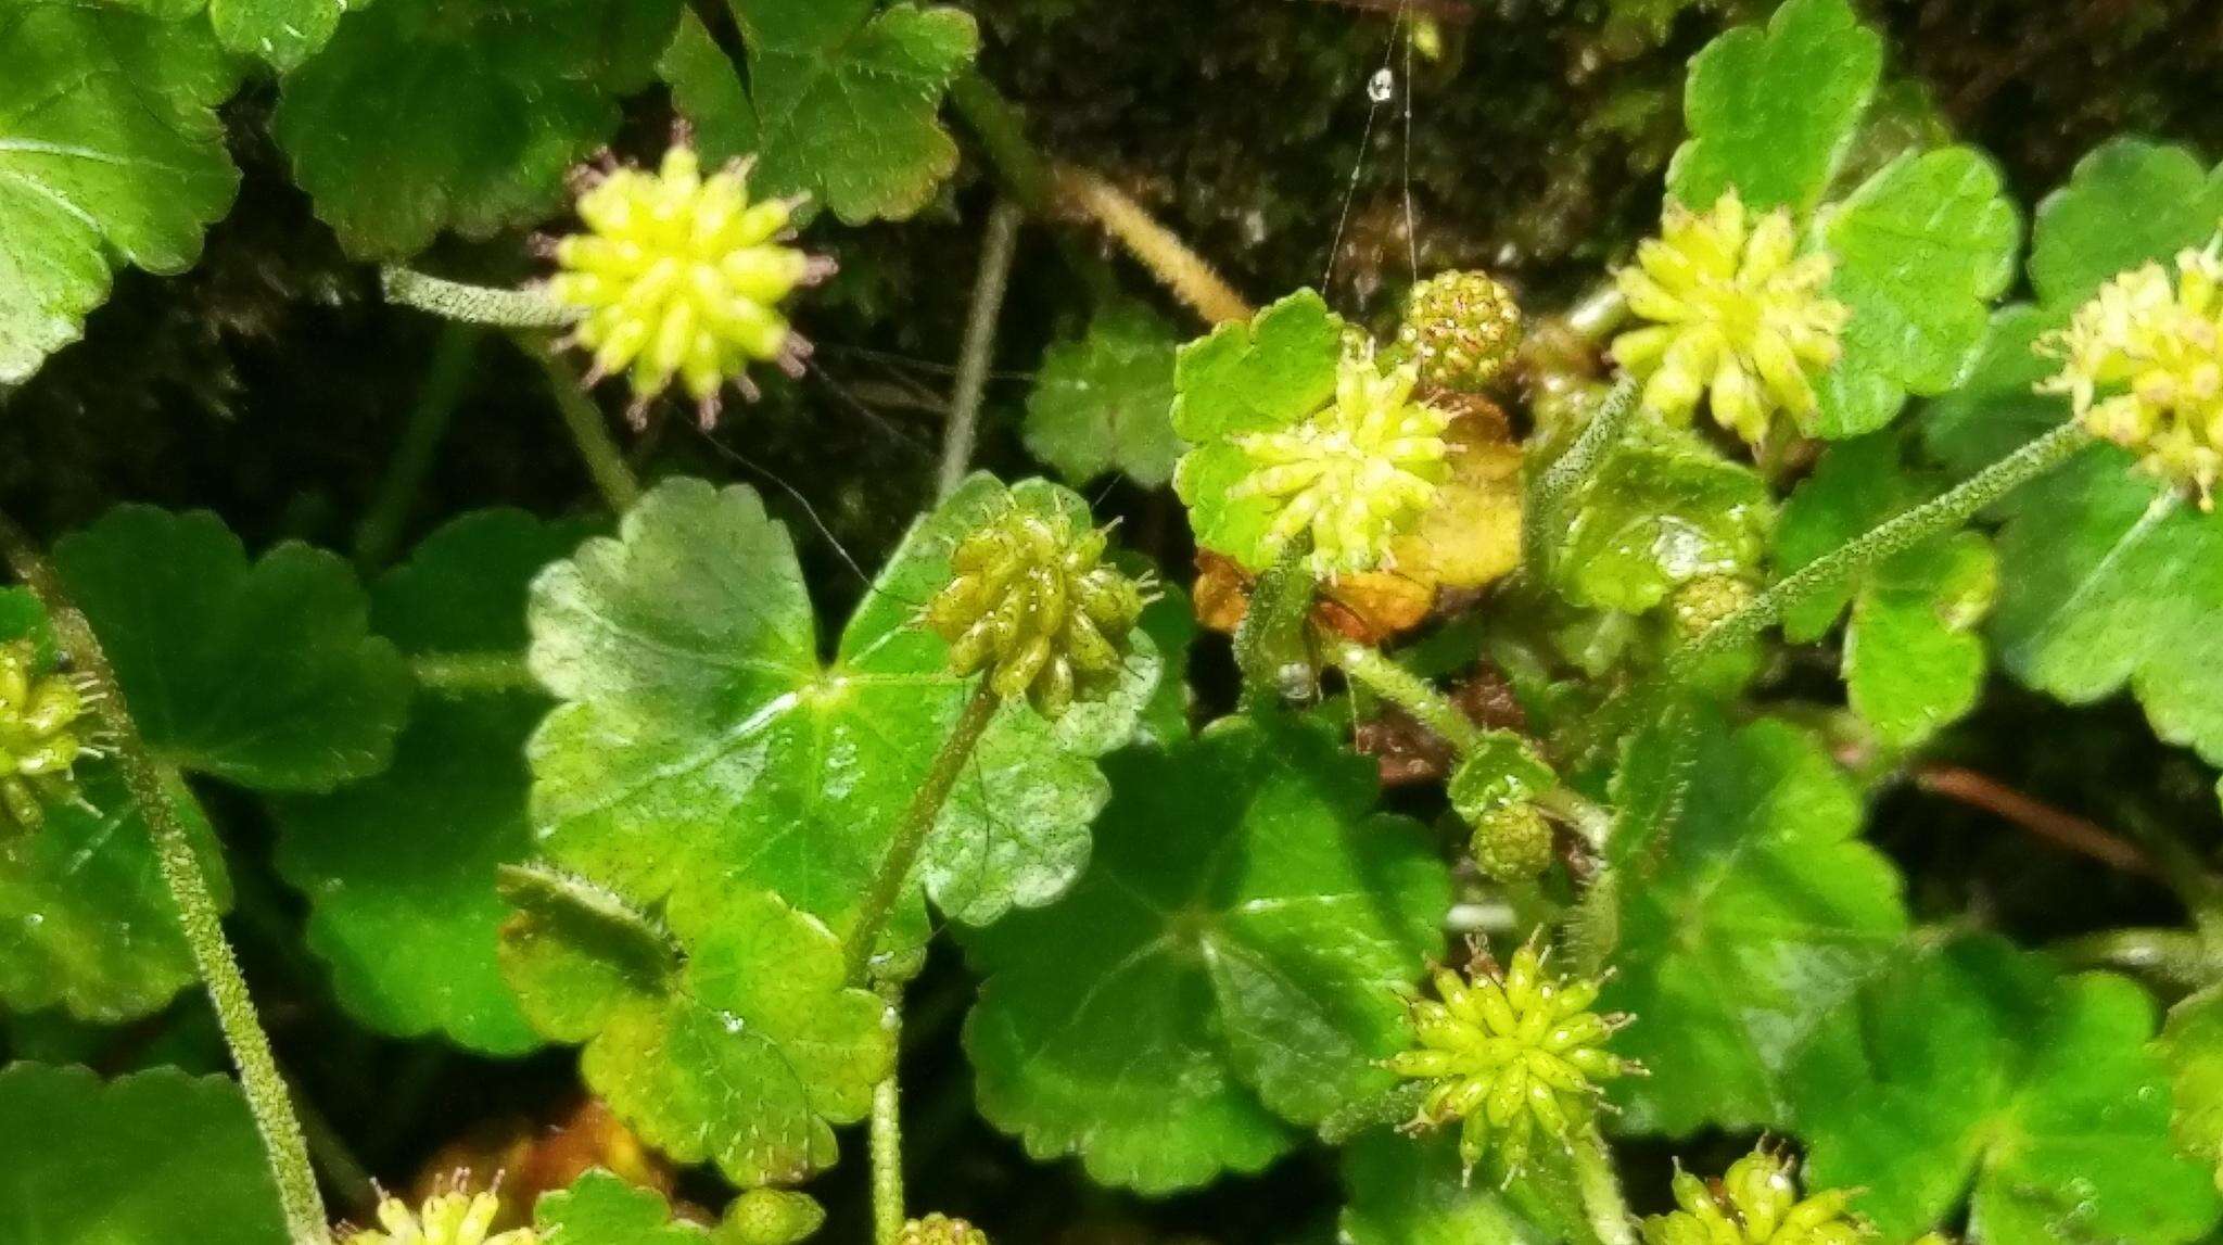
<path fill-rule="evenodd" d="M 1601 983 L 1547 976 L 1543 960 L 1525 945 L 1503 976 L 1436 969 L 1436 998 L 1412 1003 L 1418 1045 L 1389 1058 L 1389 1072 L 1429 1083 L 1412 1127 L 1461 1120 L 1469 1169 L 1496 1147 L 1512 1178 L 1536 1134 L 1569 1145 L 1596 1112 L 1598 1083 L 1638 1072 L 1605 1049 L 1623 1020 L 1589 1009 Z"/>

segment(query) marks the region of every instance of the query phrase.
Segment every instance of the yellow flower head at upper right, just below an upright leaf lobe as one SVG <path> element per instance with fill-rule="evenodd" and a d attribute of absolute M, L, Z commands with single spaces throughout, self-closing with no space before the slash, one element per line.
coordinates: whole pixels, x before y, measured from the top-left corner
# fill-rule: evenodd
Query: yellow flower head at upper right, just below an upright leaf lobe
<path fill-rule="evenodd" d="M 1714 420 L 1752 445 L 1778 411 L 1812 431 L 1814 376 L 1836 362 L 1852 309 L 1823 296 L 1830 256 L 1796 249 L 1787 209 L 1754 220 L 1736 191 L 1703 213 L 1667 205 L 1661 238 L 1616 273 L 1629 311 L 1652 320 L 1614 338 L 1645 407 L 1687 420 L 1707 396 Z"/>

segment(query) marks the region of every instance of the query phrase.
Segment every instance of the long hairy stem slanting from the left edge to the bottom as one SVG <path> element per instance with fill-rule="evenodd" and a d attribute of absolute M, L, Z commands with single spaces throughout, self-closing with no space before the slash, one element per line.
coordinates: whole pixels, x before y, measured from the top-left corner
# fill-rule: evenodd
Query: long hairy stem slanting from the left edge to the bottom
<path fill-rule="evenodd" d="M 309 1145 L 302 1141 L 300 1120 L 293 1118 L 293 1100 L 278 1060 L 271 1056 L 269 1036 L 256 1018 L 253 998 L 247 994 L 247 978 L 225 940 L 222 916 L 209 878 L 193 854 L 185 814 L 178 809 L 182 778 L 176 769 L 156 760 L 147 751 L 147 740 L 131 720 L 122 687 L 116 683 L 116 667 L 100 649 L 93 625 L 69 600 L 62 578 L 38 549 L 38 545 L 7 516 L 0 516 L 0 556 L 16 571 L 16 578 L 47 607 L 53 636 L 69 654 L 71 667 L 91 683 L 93 705 L 100 725 L 116 749 L 116 765 L 122 769 L 124 787 L 140 807 L 147 829 L 153 836 L 156 863 L 162 883 L 178 905 L 178 923 L 185 943 L 193 954 L 209 1000 L 216 1005 L 216 1020 L 231 1047 L 231 1060 L 240 1069 L 240 1087 L 247 1092 L 247 1107 L 253 1112 L 256 1132 L 262 1136 L 262 1152 L 269 1156 L 271 1174 L 278 1181 L 278 1203 L 285 1209 L 287 1236 L 293 1245 L 327 1245 L 325 1203 L 316 1189 L 316 1172 L 309 1167 Z"/>

